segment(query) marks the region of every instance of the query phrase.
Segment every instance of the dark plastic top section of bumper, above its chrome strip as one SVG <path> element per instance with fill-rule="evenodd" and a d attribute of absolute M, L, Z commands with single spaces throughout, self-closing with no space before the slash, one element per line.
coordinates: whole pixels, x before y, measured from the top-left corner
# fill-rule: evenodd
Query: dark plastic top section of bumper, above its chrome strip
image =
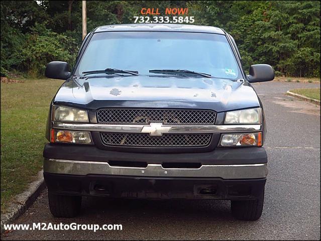
<path fill-rule="evenodd" d="M 94 145 L 46 144 L 46 159 L 76 160 L 90 162 L 146 162 L 162 164 L 169 162 L 200 163 L 201 165 L 244 165 L 267 163 L 262 147 L 217 148 L 201 153 L 130 153 L 101 150 Z"/>

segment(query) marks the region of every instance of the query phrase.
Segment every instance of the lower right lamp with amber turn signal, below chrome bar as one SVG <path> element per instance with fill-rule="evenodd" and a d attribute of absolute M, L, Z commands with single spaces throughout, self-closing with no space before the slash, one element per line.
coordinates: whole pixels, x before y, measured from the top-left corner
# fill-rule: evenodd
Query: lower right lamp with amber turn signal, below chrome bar
<path fill-rule="evenodd" d="M 224 134 L 222 135 L 222 147 L 235 146 L 262 146 L 262 133 L 245 133 L 245 134 Z"/>

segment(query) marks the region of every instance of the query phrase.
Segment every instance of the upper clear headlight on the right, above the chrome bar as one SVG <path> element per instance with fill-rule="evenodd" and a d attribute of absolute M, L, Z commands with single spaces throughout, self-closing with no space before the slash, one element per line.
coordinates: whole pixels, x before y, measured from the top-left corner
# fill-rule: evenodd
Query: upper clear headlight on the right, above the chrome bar
<path fill-rule="evenodd" d="M 261 108 L 228 111 L 224 124 L 261 124 Z"/>

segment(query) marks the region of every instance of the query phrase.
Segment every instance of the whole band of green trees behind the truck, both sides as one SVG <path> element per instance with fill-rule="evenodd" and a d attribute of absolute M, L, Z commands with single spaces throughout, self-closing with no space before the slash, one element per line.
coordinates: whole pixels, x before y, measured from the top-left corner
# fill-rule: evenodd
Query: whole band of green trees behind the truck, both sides
<path fill-rule="evenodd" d="M 87 1 L 87 31 L 133 23 L 141 8 L 188 8 L 195 24 L 224 28 L 245 70 L 267 63 L 277 75 L 320 76 L 317 1 Z M 42 75 L 48 61 L 71 63 L 81 44 L 81 1 L 2 1 L 1 67 Z"/>

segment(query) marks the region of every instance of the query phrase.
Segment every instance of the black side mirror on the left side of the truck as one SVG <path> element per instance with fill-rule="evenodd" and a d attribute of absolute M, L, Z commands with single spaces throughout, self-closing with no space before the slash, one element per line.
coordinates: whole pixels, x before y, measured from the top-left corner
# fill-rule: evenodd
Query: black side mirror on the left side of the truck
<path fill-rule="evenodd" d="M 68 79 L 70 77 L 69 64 L 61 61 L 50 62 L 45 71 L 45 75 L 52 79 Z"/>

